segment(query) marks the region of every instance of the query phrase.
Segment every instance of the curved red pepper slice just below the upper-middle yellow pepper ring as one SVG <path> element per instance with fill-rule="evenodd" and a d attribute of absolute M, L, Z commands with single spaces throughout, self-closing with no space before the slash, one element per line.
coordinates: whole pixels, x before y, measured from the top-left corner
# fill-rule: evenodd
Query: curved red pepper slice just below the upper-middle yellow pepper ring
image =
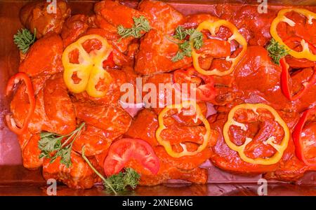
<path fill-rule="evenodd" d="M 201 84 L 202 80 L 204 85 Z M 212 76 L 205 76 L 198 73 L 194 68 L 185 70 L 177 70 L 173 73 L 173 83 L 195 83 L 198 87 L 195 89 L 197 100 L 208 102 L 216 96 L 214 81 Z"/>

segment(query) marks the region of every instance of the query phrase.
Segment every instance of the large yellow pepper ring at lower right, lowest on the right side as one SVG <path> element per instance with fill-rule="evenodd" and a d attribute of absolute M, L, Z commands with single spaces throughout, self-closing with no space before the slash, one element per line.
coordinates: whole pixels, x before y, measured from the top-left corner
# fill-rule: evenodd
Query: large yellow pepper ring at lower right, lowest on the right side
<path fill-rule="evenodd" d="M 272 113 L 272 115 L 275 117 L 275 121 L 277 123 L 279 123 L 279 125 L 284 130 L 284 137 L 281 141 L 281 144 L 274 143 L 275 137 L 270 137 L 265 141 L 265 144 L 269 144 L 270 146 L 275 148 L 275 150 L 276 150 L 275 155 L 272 155 L 272 157 L 270 157 L 270 158 L 252 159 L 252 158 L 247 157 L 246 154 L 244 153 L 244 149 L 252 141 L 251 138 L 246 138 L 246 141 L 241 146 L 237 146 L 236 144 L 234 144 L 230 140 L 229 130 L 230 130 L 231 125 L 237 125 L 237 126 L 241 127 L 242 130 L 246 130 L 246 125 L 234 120 L 234 115 L 235 115 L 236 111 L 239 109 L 252 110 L 256 114 L 258 114 L 257 113 L 258 109 L 265 109 L 265 110 L 270 111 L 270 113 Z M 289 144 L 290 132 L 289 132 L 289 127 L 287 127 L 287 123 L 285 123 L 284 120 L 282 120 L 282 118 L 279 116 L 277 111 L 275 111 L 275 109 L 273 109 L 271 106 L 268 106 L 266 104 L 239 104 L 239 105 L 235 106 L 234 108 L 232 108 L 230 110 L 230 113 L 228 114 L 228 120 L 223 127 L 223 137 L 225 139 L 226 144 L 233 151 L 236 151 L 239 154 L 240 158 L 242 158 L 242 160 L 244 160 L 244 162 L 249 162 L 251 164 L 256 164 L 256 165 L 273 165 L 273 164 L 279 162 L 279 160 L 281 160 L 283 153 L 284 153 L 285 149 L 287 148 L 287 145 Z"/>

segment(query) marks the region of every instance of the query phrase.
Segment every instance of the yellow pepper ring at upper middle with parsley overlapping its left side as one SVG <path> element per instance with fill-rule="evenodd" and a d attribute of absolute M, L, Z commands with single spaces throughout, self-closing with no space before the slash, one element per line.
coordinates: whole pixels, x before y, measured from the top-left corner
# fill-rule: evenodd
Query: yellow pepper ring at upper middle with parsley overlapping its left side
<path fill-rule="evenodd" d="M 217 75 L 217 76 L 228 75 L 228 74 L 232 73 L 232 71 L 234 71 L 235 67 L 237 66 L 239 61 L 242 59 L 242 57 L 244 57 L 244 54 L 246 53 L 246 49 L 247 49 L 246 39 L 244 38 L 244 36 L 242 36 L 242 34 L 239 33 L 237 27 L 235 27 L 235 25 L 233 25 L 231 22 L 228 22 L 227 20 L 218 20 L 216 22 L 209 22 L 208 20 L 206 20 L 206 21 L 202 22 L 201 24 L 199 24 L 199 26 L 197 27 L 197 31 L 202 31 L 204 29 L 207 29 L 211 32 L 211 36 L 216 36 L 216 31 L 222 26 L 227 27 L 228 29 L 230 29 L 230 31 L 232 31 L 232 36 L 230 36 L 230 38 L 228 38 L 228 41 L 229 42 L 231 42 L 233 40 L 237 41 L 240 45 L 242 45 L 242 51 L 239 52 L 239 55 L 237 55 L 237 57 L 234 57 L 234 58 L 231 58 L 229 56 L 226 57 L 227 61 L 232 62 L 230 69 L 228 69 L 227 71 L 220 71 L 218 69 L 206 71 L 206 70 L 202 69 L 201 66 L 199 66 L 199 57 L 203 57 L 203 55 L 201 55 L 195 51 L 195 48 L 193 48 L 193 42 L 191 41 L 193 66 L 195 67 L 195 69 L 199 73 L 202 73 L 204 75 L 209 75 L 209 76 L 211 76 L 211 75 Z"/>

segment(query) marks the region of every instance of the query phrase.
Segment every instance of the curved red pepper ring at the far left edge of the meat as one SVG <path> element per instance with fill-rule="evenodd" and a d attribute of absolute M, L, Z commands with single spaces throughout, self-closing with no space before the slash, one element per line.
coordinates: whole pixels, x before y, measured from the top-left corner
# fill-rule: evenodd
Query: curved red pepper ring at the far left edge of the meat
<path fill-rule="evenodd" d="M 12 132 L 15 132 L 15 134 L 22 134 L 23 132 L 25 132 L 25 130 L 27 130 L 29 121 L 31 120 L 31 116 L 34 113 L 35 109 L 34 89 L 32 81 L 26 73 L 19 72 L 8 80 L 8 85 L 6 86 L 6 96 L 8 96 L 13 91 L 14 86 L 20 82 L 25 83 L 25 93 L 27 94 L 29 99 L 29 110 L 27 112 L 27 117 L 25 118 L 22 127 L 18 127 L 16 125 L 15 120 L 12 118 L 11 114 L 6 115 L 6 124 Z"/>

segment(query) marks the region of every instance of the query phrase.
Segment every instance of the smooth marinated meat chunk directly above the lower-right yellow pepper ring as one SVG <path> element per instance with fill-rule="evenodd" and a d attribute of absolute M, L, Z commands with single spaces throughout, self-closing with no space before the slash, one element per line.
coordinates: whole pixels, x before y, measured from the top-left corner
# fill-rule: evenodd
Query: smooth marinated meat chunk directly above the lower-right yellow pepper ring
<path fill-rule="evenodd" d="M 272 63 L 264 48 L 250 46 L 236 66 L 233 76 L 235 88 L 242 93 L 244 102 L 263 102 L 275 109 L 295 110 L 280 88 L 281 69 Z"/>

